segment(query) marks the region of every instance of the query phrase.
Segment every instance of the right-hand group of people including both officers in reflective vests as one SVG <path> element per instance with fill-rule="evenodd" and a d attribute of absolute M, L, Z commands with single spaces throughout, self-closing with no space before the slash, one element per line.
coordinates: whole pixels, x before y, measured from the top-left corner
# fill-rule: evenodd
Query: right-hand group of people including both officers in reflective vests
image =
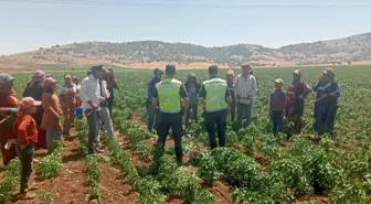
<path fill-rule="evenodd" d="M 177 162 L 179 165 L 182 164 L 182 125 L 186 124 L 187 128 L 190 118 L 198 122 L 199 104 L 204 111 L 211 149 L 218 144 L 225 146 L 227 118 L 234 121 L 236 130 L 250 125 L 254 98 L 258 95 L 257 80 L 251 65 L 242 65 L 242 74 L 237 76 L 234 76 L 232 69 L 227 71 L 225 79 L 219 77 L 219 67 L 212 65 L 209 67 L 209 79 L 201 84 L 198 83 L 194 73 L 187 76 L 184 84 L 176 79 L 177 69 L 172 64 L 166 66 L 163 78 L 162 75 L 162 71 L 155 68 L 153 77 L 147 86 L 148 131 L 152 132 L 155 128 L 159 137 L 156 160 L 163 154 L 166 139 L 171 128 Z M 299 69 L 293 72 L 293 82 L 286 92 L 283 86 L 283 79 L 275 79 L 274 92 L 269 98 L 269 117 L 274 133 L 283 132 L 284 117 L 293 124 L 294 132 L 300 133 L 305 99 L 314 90 L 317 92 L 314 129 L 320 136 L 326 132 L 332 138 L 336 136 L 335 116 L 340 90 L 335 82 L 332 68 L 324 69 L 322 76 L 312 88 L 303 80 L 303 72 Z"/>

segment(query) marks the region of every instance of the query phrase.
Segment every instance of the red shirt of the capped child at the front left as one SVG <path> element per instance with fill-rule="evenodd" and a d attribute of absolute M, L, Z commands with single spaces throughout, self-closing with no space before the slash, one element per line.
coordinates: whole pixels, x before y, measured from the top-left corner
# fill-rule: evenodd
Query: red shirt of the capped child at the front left
<path fill-rule="evenodd" d="M 31 115 L 18 116 L 14 122 L 14 131 L 22 146 L 26 146 L 29 142 L 38 142 L 36 122 Z"/>

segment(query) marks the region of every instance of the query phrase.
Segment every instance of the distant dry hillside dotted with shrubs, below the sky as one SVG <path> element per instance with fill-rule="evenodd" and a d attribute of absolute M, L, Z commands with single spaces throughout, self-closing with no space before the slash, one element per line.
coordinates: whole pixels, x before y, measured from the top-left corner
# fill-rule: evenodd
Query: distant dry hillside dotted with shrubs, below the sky
<path fill-rule="evenodd" d="M 205 47 L 190 43 L 140 41 L 126 43 L 84 42 L 40 47 L 38 51 L 0 57 L 1 64 L 94 64 L 140 66 L 172 62 L 179 65 L 220 64 L 254 66 L 350 64 L 371 61 L 371 33 L 268 49 L 237 44 Z M 8 62 L 8 63 L 7 63 Z M 6 65 L 3 65 L 6 66 Z"/>

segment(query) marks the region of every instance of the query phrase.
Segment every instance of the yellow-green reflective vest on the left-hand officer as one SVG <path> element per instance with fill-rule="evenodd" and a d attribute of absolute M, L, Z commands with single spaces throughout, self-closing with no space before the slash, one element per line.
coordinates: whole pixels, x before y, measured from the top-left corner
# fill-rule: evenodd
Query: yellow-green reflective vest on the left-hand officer
<path fill-rule="evenodd" d="M 180 111 L 180 87 L 181 82 L 174 78 L 166 78 L 162 82 L 156 84 L 159 108 L 161 112 L 176 114 Z"/>

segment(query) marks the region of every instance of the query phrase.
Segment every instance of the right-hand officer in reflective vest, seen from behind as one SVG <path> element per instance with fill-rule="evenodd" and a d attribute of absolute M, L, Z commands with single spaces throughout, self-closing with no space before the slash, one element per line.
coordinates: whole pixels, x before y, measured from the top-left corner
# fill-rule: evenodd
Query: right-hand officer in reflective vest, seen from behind
<path fill-rule="evenodd" d="M 206 129 L 211 149 L 218 147 L 215 129 L 218 132 L 219 146 L 225 147 L 226 109 L 232 104 L 232 97 L 227 89 L 226 82 L 218 77 L 219 67 L 209 67 L 209 80 L 202 83 L 200 101 L 206 110 Z"/>

